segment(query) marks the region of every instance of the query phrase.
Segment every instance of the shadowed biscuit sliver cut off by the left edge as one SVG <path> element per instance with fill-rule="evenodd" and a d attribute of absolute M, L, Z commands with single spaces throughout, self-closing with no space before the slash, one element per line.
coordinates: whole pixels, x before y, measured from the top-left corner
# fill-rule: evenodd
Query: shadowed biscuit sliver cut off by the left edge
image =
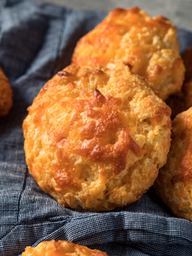
<path fill-rule="evenodd" d="M 8 78 L 0 67 L 0 117 L 5 116 L 13 105 L 13 92 Z"/>

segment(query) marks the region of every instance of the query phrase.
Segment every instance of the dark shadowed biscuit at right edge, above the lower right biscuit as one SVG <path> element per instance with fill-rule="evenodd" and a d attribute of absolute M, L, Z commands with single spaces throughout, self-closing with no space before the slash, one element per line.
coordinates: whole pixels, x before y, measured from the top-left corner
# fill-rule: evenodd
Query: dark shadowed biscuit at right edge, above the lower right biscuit
<path fill-rule="evenodd" d="M 172 95 L 166 102 L 172 109 L 172 118 L 192 106 L 192 47 L 182 54 L 182 58 L 186 67 L 182 91 L 178 95 Z"/>

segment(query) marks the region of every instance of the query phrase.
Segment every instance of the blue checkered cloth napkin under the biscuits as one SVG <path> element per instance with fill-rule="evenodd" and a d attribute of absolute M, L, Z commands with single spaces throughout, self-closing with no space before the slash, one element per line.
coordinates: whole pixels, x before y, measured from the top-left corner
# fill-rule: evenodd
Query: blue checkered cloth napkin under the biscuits
<path fill-rule="evenodd" d="M 0 65 L 14 104 L 0 120 L 0 255 L 18 256 L 26 246 L 66 239 L 109 256 L 192 255 L 192 224 L 175 218 L 154 189 L 124 209 L 75 212 L 46 195 L 29 175 L 22 121 L 43 84 L 70 64 L 77 40 L 105 17 L 30 1 L 3 1 Z M 192 34 L 179 30 L 184 51 Z"/>

